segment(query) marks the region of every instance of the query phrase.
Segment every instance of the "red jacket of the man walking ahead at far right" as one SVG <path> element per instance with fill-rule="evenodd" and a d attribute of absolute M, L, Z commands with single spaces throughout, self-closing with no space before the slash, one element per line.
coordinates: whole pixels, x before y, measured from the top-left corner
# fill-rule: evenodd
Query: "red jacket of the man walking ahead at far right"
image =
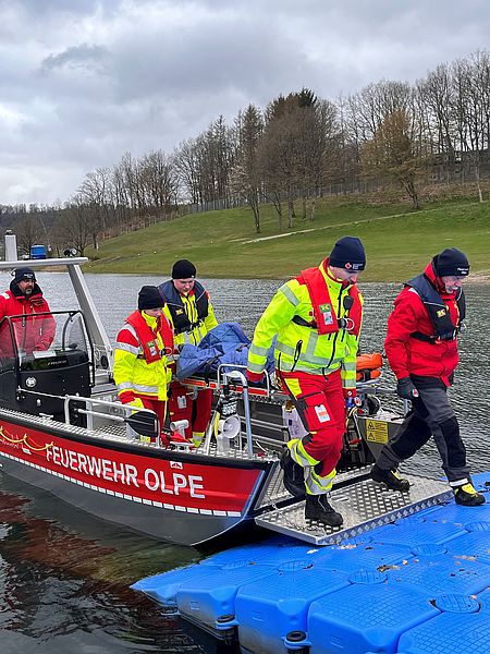
<path fill-rule="evenodd" d="M 448 307 L 454 327 L 458 326 L 460 312 L 456 293 L 446 293 L 441 280 L 436 277 L 432 265 L 425 275 L 436 286 L 441 300 Z M 450 377 L 460 361 L 457 340 L 441 340 L 429 343 L 412 337 L 413 332 L 432 336 L 433 324 L 420 296 L 415 289 L 405 287 L 394 301 L 394 308 L 388 318 L 388 334 L 384 350 L 388 361 L 397 379 L 408 375 L 438 377 L 450 386 Z"/>

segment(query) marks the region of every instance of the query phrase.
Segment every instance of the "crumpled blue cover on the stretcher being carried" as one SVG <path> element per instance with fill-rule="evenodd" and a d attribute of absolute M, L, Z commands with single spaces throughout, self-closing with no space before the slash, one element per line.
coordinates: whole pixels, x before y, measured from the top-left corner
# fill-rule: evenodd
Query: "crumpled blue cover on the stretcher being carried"
<path fill-rule="evenodd" d="M 223 363 L 246 367 L 250 344 L 250 339 L 238 323 L 221 323 L 208 331 L 198 346 L 183 346 L 177 360 L 176 377 L 185 379 L 192 375 L 215 376 L 218 366 Z M 269 373 L 274 370 L 273 350 L 272 344 L 266 365 Z"/>

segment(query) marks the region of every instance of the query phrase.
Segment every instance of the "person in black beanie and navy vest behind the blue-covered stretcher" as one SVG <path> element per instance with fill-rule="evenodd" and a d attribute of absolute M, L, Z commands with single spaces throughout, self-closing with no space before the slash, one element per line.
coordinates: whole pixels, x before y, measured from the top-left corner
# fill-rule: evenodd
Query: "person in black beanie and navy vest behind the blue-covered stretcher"
<path fill-rule="evenodd" d="M 172 324 L 175 346 L 197 346 L 218 325 L 209 293 L 196 279 L 196 266 L 180 259 L 172 267 L 172 278 L 158 288 L 166 301 L 163 312 Z M 176 379 L 170 386 L 169 414 L 172 422 L 187 420 L 187 440 L 196 447 L 203 441 L 211 416 L 212 390 L 203 388 L 193 399 Z"/>

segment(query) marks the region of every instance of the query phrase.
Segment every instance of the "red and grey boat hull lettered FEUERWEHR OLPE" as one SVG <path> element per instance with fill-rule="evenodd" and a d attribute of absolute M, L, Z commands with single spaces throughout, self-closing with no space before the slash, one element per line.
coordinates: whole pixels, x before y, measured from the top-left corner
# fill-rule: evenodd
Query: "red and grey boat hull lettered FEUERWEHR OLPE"
<path fill-rule="evenodd" d="M 183 545 L 249 520 L 271 468 L 75 432 L 0 415 L 3 472 L 98 518 Z"/>

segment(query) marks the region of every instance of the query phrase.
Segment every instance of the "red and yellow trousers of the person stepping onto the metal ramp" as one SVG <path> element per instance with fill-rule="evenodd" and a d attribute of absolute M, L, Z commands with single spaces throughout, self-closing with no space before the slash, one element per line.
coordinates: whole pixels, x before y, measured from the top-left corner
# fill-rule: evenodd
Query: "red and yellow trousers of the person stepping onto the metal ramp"
<path fill-rule="evenodd" d="M 330 491 L 345 432 L 345 399 L 340 370 L 330 375 L 281 373 L 281 383 L 308 429 L 289 441 L 293 461 L 305 468 L 305 486 L 318 495 Z"/>

